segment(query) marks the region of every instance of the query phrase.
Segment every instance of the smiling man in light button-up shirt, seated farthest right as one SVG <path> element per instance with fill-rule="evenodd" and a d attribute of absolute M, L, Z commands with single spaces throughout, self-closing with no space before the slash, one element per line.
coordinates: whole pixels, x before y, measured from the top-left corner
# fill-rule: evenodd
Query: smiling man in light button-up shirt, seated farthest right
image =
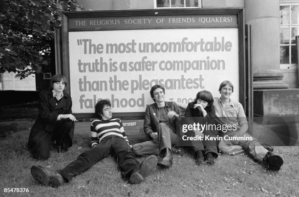
<path fill-rule="evenodd" d="M 239 102 L 230 99 L 234 92 L 233 84 L 230 81 L 223 81 L 218 90 L 221 96 L 214 102 L 215 122 L 220 125 L 231 125 L 231 128 L 235 128 L 235 130 L 227 132 L 220 131 L 218 134 L 221 137 L 225 135 L 235 137 L 234 140 L 226 141 L 226 144 L 230 145 L 232 143 L 241 146 L 245 152 L 252 155 L 257 161 L 267 165 L 269 170 L 278 171 L 283 164 L 280 155 L 273 152 L 272 147 L 261 146 L 255 138 L 246 133 L 248 122 L 243 106 Z M 220 146 L 219 149 L 221 150 Z"/>

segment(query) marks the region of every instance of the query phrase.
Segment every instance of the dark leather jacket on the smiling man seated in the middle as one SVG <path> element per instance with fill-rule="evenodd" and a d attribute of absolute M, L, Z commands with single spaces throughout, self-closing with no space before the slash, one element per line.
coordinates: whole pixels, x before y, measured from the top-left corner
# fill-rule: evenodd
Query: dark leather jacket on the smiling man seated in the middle
<path fill-rule="evenodd" d="M 165 108 L 167 113 L 169 111 L 175 111 L 177 114 L 180 114 L 180 110 L 177 107 L 177 105 L 174 102 L 167 102 L 165 101 Z M 149 105 L 145 111 L 145 117 L 144 117 L 144 132 L 149 136 L 152 132 L 157 132 L 157 126 L 159 124 L 159 108 L 156 103 L 153 103 Z M 172 117 L 170 119 L 171 125 L 173 128 L 171 128 L 172 131 L 176 131 L 176 118 Z"/>

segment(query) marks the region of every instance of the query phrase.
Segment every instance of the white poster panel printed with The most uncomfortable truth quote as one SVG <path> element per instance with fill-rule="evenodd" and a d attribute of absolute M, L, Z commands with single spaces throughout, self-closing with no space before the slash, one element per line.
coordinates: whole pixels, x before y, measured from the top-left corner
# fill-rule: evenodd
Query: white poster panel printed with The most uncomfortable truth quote
<path fill-rule="evenodd" d="M 74 113 L 93 113 L 99 99 L 113 112 L 144 112 L 149 90 L 165 87 L 168 101 L 189 103 L 198 91 L 219 97 L 231 81 L 239 96 L 238 28 L 68 32 Z"/>

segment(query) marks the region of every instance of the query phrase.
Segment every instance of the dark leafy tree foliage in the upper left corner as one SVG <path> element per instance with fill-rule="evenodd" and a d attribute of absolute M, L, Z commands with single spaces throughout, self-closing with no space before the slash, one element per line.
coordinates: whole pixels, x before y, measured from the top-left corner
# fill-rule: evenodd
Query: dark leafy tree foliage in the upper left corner
<path fill-rule="evenodd" d="M 22 79 L 50 65 L 50 44 L 63 8 L 82 6 L 76 0 L 0 0 L 0 72 L 17 72 Z"/>

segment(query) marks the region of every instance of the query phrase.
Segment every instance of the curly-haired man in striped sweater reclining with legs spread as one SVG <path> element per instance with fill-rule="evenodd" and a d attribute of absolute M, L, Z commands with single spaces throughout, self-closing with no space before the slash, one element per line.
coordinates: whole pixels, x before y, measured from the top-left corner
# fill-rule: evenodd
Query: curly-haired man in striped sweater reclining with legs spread
<path fill-rule="evenodd" d="M 99 101 L 95 106 L 95 113 L 99 115 L 100 120 L 94 120 L 90 126 L 92 148 L 81 153 L 63 170 L 48 171 L 41 166 L 32 166 L 31 174 L 35 180 L 45 185 L 59 187 L 109 154 L 116 158 L 122 178 L 131 184 L 140 183 L 156 169 L 155 155 L 148 156 L 142 163 L 136 160 L 121 120 L 112 118 L 110 101 Z"/>

